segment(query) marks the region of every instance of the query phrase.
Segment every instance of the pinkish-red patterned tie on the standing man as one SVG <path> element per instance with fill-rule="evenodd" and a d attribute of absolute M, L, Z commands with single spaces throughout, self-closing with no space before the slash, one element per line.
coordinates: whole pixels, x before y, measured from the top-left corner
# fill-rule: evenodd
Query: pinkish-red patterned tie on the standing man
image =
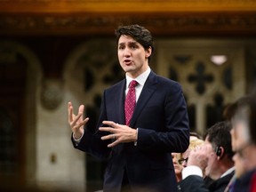
<path fill-rule="evenodd" d="M 125 115 L 125 124 L 129 125 L 133 110 L 136 105 L 136 95 L 135 95 L 135 87 L 138 84 L 135 80 L 129 84 L 129 91 L 126 95 L 125 103 L 124 103 L 124 115 Z"/>

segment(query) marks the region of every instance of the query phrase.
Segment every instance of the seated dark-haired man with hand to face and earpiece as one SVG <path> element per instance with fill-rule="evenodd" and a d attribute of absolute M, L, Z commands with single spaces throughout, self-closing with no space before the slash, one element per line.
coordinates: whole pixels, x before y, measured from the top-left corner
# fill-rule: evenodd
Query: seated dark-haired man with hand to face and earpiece
<path fill-rule="evenodd" d="M 179 191 L 225 190 L 235 172 L 230 130 L 230 122 L 225 121 L 207 130 L 204 144 L 188 156 L 188 166 L 182 170 L 182 180 L 178 184 Z"/>

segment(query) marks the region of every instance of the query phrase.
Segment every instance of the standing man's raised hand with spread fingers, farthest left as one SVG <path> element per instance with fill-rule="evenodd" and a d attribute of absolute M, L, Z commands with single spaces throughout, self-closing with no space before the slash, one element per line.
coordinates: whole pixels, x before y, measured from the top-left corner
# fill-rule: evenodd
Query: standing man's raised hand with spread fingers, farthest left
<path fill-rule="evenodd" d="M 84 125 L 87 124 L 89 118 L 83 119 L 84 105 L 80 105 L 78 108 L 77 116 L 73 113 L 73 106 L 71 102 L 68 102 L 68 124 L 71 131 L 74 134 L 75 139 L 79 139 L 84 134 Z"/>

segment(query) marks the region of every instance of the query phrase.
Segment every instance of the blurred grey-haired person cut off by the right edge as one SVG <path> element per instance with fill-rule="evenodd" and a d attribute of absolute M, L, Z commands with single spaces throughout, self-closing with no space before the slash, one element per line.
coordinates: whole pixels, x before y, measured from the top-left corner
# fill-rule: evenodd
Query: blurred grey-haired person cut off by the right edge
<path fill-rule="evenodd" d="M 246 95 L 231 106 L 232 148 L 236 177 L 226 191 L 256 191 L 256 95 Z"/>

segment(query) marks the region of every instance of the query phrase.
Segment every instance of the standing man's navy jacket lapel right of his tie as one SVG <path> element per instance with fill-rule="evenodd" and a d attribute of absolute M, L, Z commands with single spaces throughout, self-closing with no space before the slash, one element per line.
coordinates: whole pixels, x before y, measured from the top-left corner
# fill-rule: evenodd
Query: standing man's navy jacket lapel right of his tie
<path fill-rule="evenodd" d="M 137 101 L 136 107 L 134 109 L 130 126 L 136 122 L 137 117 L 140 115 L 141 110 L 145 107 L 148 103 L 149 98 L 151 95 L 156 91 L 156 74 L 154 72 L 150 72 L 147 81 L 145 82 L 142 91 L 140 93 L 140 98 Z"/>

